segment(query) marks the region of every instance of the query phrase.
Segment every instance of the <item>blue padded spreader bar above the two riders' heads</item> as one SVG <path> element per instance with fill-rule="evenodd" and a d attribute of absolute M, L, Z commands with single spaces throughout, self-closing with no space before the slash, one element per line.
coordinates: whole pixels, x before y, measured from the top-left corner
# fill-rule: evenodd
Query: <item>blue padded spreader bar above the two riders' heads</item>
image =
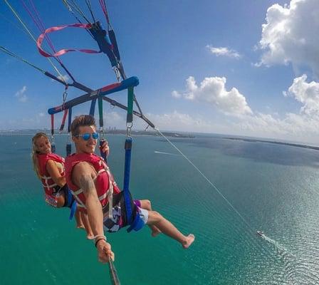
<path fill-rule="evenodd" d="M 115 93 L 115 92 L 125 90 L 125 89 L 130 88 L 130 87 L 135 87 L 139 83 L 140 82 L 139 82 L 138 78 L 135 76 L 132 76 L 130 78 L 125 79 L 121 83 L 115 83 L 115 84 L 112 84 L 110 86 L 105 86 L 105 87 L 100 88 L 98 90 L 94 90 L 93 92 L 81 95 L 78 98 L 74 98 L 72 100 L 69 100 L 69 101 L 65 102 L 63 105 L 59 105 L 57 107 L 50 108 L 50 109 L 48 109 L 48 113 L 50 115 L 53 115 L 53 114 L 59 113 L 63 110 L 66 110 L 70 107 L 73 107 L 75 105 L 79 105 L 81 103 L 85 103 L 87 101 L 94 100 L 94 99 L 98 98 L 99 96 L 104 96 L 104 95 L 108 95 L 110 93 Z"/>

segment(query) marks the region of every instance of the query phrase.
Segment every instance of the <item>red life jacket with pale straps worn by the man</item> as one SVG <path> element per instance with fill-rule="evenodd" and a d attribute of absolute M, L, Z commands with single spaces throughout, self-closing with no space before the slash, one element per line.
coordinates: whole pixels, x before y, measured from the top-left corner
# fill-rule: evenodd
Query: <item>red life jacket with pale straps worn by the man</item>
<path fill-rule="evenodd" d="M 66 157 L 66 182 L 73 196 L 78 202 L 78 207 L 83 212 L 86 212 L 85 202 L 86 198 L 83 194 L 83 190 L 80 189 L 77 185 L 73 184 L 72 181 L 72 170 L 75 165 L 79 162 L 88 162 L 92 165 L 96 171 L 97 176 L 95 177 L 95 187 L 98 194 L 98 199 L 104 208 L 109 200 L 109 206 L 112 206 L 112 197 L 113 192 L 115 194 L 120 193 L 120 189 L 117 187 L 116 182 L 114 181 L 113 175 L 110 173 L 108 165 L 105 163 L 102 157 L 95 155 L 94 153 L 79 153 L 69 155 Z"/>

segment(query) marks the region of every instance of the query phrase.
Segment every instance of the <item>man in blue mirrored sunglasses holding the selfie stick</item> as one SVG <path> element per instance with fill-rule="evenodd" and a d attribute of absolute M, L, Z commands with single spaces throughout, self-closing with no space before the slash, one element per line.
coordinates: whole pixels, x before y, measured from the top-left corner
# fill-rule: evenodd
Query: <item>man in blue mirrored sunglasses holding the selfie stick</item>
<path fill-rule="evenodd" d="M 95 235 L 95 247 L 98 249 L 98 260 L 108 262 L 110 259 L 114 260 L 114 253 L 110 244 L 106 242 L 103 226 L 109 232 L 115 232 L 126 226 L 122 223 L 125 220 L 122 204 L 119 206 L 117 202 L 113 202 L 113 215 L 111 215 L 113 218 L 109 218 L 108 197 L 113 193 L 112 201 L 117 201 L 121 193 L 102 157 L 94 154 L 98 139 L 95 119 L 90 115 L 75 117 L 70 130 L 76 152 L 66 158 L 68 187 L 72 190 L 80 210 L 88 213 L 90 226 Z M 184 236 L 161 214 L 136 205 L 133 211 L 135 211 L 133 214 L 140 215 L 144 224 L 155 227 L 159 232 L 176 239 L 184 249 L 194 242 L 193 234 Z"/>

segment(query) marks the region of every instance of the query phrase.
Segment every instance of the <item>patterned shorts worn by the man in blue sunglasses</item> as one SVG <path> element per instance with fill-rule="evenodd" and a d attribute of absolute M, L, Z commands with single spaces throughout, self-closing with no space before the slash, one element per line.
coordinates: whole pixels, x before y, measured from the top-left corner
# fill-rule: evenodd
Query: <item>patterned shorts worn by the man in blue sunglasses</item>
<path fill-rule="evenodd" d="M 140 219 L 142 219 L 142 222 L 146 224 L 148 219 L 148 211 L 146 209 L 140 208 L 141 206 L 140 200 L 134 200 L 134 204 L 135 204 L 135 207 L 133 209 L 133 211 L 135 210 L 134 217 L 136 216 L 136 212 L 138 212 L 140 214 Z M 123 211 L 121 209 L 121 206 L 117 204 L 112 209 L 112 213 L 113 213 L 112 218 L 109 217 L 108 212 L 104 214 L 104 218 L 103 218 L 104 231 L 117 232 L 122 227 L 125 227 L 127 225 L 127 224 L 123 224 L 123 219 L 124 219 L 123 214 L 125 213 L 122 213 L 122 212 Z"/>

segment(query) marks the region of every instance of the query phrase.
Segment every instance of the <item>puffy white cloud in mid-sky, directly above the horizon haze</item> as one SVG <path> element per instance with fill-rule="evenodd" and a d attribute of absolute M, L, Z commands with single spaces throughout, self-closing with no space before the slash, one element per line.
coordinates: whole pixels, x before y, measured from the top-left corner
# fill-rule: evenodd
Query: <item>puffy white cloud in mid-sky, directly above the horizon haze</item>
<path fill-rule="evenodd" d="M 239 93 L 239 90 L 236 88 L 226 90 L 226 78 L 224 77 L 206 77 L 198 86 L 195 78 L 189 76 L 186 81 L 186 90 L 183 93 L 174 90 L 172 96 L 209 103 L 227 115 L 252 113 L 246 98 Z"/>

